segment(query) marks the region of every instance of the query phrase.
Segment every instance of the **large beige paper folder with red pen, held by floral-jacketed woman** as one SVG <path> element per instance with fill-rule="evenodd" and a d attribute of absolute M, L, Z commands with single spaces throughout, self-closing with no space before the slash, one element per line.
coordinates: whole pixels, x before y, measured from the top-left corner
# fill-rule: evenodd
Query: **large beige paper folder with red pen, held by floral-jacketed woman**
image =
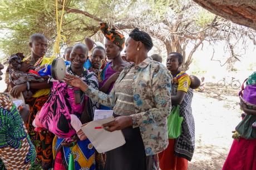
<path fill-rule="evenodd" d="M 125 137 L 122 131 L 109 132 L 104 128 L 99 128 L 113 120 L 114 117 L 109 117 L 103 120 L 91 121 L 81 126 L 81 130 L 99 153 L 114 150 L 125 144 Z"/>

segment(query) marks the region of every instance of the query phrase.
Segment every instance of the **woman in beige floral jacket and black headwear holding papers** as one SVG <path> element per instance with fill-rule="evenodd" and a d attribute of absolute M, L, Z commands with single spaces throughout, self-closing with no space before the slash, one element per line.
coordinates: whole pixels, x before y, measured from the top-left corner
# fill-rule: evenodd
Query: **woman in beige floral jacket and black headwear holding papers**
<path fill-rule="evenodd" d="M 168 146 L 171 75 L 163 64 L 147 58 L 153 46 L 149 34 L 136 28 L 129 36 L 125 54 L 133 63 L 120 73 L 109 95 L 75 76 L 66 75 L 65 81 L 114 110 L 115 120 L 102 126 L 122 130 L 126 143 L 106 152 L 105 169 L 159 169 L 157 153 Z"/>

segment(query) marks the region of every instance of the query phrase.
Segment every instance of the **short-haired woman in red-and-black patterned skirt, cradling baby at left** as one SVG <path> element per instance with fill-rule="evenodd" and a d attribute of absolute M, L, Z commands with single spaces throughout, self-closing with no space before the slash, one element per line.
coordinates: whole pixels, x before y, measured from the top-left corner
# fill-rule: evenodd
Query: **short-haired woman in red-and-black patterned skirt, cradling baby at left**
<path fill-rule="evenodd" d="M 30 110 L 28 122 L 25 122 L 25 126 L 31 141 L 36 146 L 37 158 L 35 163 L 40 164 L 43 169 L 50 169 L 53 160 L 52 140 L 54 135 L 48 131 L 36 132 L 35 127 L 32 125 L 37 112 L 41 110 L 43 104 L 48 100 L 48 95 L 50 93 L 50 84 L 48 84 L 47 79 L 43 79 L 42 81 L 37 81 L 38 79 L 36 79 L 36 81 L 33 81 L 35 80 L 35 77 L 37 77 L 35 75 L 37 74 L 36 70 L 40 69 L 43 57 L 48 48 L 46 37 L 42 34 L 31 35 L 29 39 L 29 47 L 31 48 L 30 61 L 22 62 L 22 69 L 16 70 L 16 72 L 13 71 L 13 74 L 10 73 L 11 76 L 9 78 L 9 83 L 11 83 L 10 81 L 16 80 L 15 78 L 22 79 L 26 82 L 14 85 L 11 90 L 11 95 L 13 97 L 19 97 L 21 93 L 23 93 L 23 96 L 26 99 L 26 104 L 29 105 Z M 23 68 L 25 68 L 25 70 L 23 70 Z M 32 72 L 25 73 L 26 71 L 31 70 Z M 22 73 L 22 71 L 24 71 L 24 73 Z"/>

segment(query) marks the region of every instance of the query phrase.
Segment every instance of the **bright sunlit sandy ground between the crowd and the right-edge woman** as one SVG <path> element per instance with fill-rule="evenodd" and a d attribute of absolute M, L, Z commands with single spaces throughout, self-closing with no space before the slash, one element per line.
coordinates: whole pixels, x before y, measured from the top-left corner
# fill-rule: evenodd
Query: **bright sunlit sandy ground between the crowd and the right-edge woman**
<path fill-rule="evenodd" d="M 240 121 L 239 90 L 206 84 L 194 92 L 195 153 L 189 169 L 221 169 L 232 145 L 232 131 Z"/>

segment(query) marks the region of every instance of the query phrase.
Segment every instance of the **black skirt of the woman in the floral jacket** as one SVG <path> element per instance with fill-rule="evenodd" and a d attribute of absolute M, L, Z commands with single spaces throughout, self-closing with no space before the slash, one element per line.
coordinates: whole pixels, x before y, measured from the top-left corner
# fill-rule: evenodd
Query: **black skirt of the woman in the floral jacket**
<path fill-rule="evenodd" d="M 105 170 L 151 170 L 152 156 L 145 154 L 140 128 L 127 127 L 122 133 L 126 143 L 106 152 Z"/>

